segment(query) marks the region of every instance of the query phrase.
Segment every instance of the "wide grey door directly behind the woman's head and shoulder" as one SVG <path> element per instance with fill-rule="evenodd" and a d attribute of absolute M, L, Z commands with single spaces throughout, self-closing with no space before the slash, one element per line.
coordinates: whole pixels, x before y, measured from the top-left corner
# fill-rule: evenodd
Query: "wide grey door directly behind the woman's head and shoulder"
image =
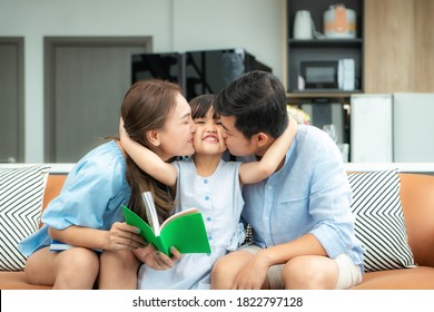
<path fill-rule="evenodd" d="M 46 162 L 76 163 L 118 134 L 131 55 L 151 50 L 151 37 L 45 38 Z"/>

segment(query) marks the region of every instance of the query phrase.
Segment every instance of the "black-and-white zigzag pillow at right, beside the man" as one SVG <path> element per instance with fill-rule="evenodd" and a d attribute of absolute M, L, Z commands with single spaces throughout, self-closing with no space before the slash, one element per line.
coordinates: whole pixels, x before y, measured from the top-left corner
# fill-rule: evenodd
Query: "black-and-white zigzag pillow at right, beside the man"
<path fill-rule="evenodd" d="M 401 205 L 398 170 L 348 174 L 355 234 L 366 272 L 414 267 Z"/>

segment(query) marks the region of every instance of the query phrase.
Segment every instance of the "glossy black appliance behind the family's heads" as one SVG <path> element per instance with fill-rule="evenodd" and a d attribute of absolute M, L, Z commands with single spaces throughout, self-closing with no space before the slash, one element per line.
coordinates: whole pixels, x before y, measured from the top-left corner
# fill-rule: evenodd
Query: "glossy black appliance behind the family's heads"
<path fill-rule="evenodd" d="M 217 94 L 227 84 L 251 70 L 272 72 L 243 48 L 197 50 L 184 53 L 141 53 L 131 58 L 131 81 L 160 78 L 179 84 L 187 100 Z"/>

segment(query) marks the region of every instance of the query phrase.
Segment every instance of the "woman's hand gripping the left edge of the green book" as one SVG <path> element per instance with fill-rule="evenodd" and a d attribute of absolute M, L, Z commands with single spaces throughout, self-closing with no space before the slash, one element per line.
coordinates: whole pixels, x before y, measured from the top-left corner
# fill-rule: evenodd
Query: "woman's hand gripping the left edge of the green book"
<path fill-rule="evenodd" d="M 144 238 L 140 236 L 136 226 L 126 223 L 115 222 L 108 231 L 108 238 L 105 250 L 108 251 L 131 251 L 145 246 Z"/>

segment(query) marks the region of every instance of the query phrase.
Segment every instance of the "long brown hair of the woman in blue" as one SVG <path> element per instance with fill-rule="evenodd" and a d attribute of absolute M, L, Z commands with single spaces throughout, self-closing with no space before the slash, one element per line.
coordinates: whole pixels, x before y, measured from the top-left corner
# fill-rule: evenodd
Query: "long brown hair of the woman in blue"
<path fill-rule="evenodd" d="M 150 147 L 146 133 L 161 129 L 167 116 L 176 107 L 179 86 L 158 79 L 140 80 L 127 91 L 121 106 L 125 129 L 132 140 Z M 141 193 L 150 191 L 160 221 L 166 220 L 174 207 L 174 198 L 167 187 L 141 170 L 127 155 L 127 181 L 131 187 L 129 207 L 141 217 L 146 216 Z"/>

